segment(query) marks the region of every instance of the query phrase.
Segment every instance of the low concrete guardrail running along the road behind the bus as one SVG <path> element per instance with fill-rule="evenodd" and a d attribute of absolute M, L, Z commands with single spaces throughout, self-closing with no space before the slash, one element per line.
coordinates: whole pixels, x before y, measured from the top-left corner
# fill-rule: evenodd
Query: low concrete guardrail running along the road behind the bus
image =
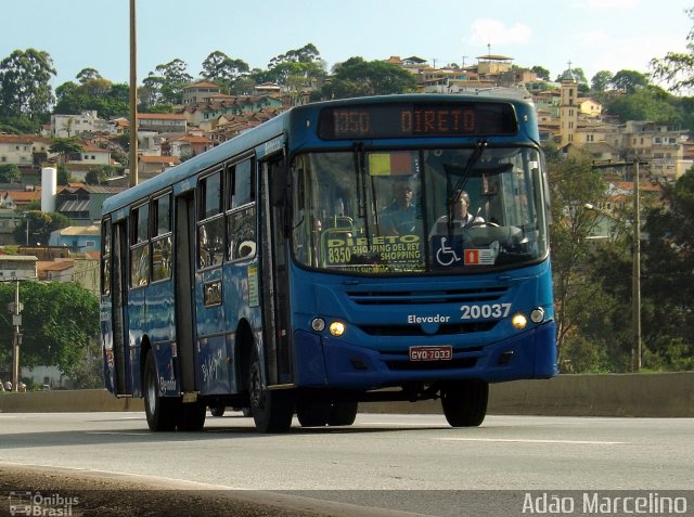
<path fill-rule="evenodd" d="M 0 393 L 0 413 L 144 411 L 103 389 Z M 369 413 L 441 413 L 439 401 L 363 403 Z M 489 414 L 694 417 L 694 372 L 560 375 L 490 387 Z"/>

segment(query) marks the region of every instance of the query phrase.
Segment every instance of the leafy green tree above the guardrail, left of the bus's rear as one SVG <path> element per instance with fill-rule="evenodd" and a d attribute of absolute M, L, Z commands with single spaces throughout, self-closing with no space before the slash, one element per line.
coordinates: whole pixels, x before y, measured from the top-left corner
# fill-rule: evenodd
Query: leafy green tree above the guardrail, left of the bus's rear
<path fill-rule="evenodd" d="M 14 300 L 15 286 L 0 284 L 0 306 Z M 99 300 L 75 283 L 20 283 L 22 312 L 21 363 L 34 367 L 55 364 L 72 375 L 82 363 L 90 341 L 99 335 Z M 12 335 L 11 321 L 0 318 L 3 341 Z"/>

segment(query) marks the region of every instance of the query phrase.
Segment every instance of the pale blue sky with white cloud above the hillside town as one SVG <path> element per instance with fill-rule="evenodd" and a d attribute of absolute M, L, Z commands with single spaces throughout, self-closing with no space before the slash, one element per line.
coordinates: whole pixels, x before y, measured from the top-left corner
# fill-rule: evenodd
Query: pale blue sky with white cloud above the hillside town
<path fill-rule="evenodd" d="M 600 70 L 648 73 L 648 62 L 685 51 L 694 0 L 136 0 L 138 83 L 180 59 L 198 77 L 215 51 L 267 68 L 312 43 L 330 70 L 352 56 L 417 56 L 440 67 L 489 52 L 551 78 L 568 63 L 590 80 Z M 46 51 L 53 88 L 95 68 L 129 80 L 130 0 L 23 0 L 3 7 L 0 60 Z"/>

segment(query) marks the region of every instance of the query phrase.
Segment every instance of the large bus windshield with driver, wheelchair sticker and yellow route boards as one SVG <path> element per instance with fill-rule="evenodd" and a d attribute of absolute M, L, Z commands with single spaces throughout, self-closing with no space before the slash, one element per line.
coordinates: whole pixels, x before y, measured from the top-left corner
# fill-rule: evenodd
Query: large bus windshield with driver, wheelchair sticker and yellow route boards
<path fill-rule="evenodd" d="M 359 274 L 474 273 L 543 258 L 531 147 L 314 152 L 293 160 L 292 237 L 305 267 Z"/>

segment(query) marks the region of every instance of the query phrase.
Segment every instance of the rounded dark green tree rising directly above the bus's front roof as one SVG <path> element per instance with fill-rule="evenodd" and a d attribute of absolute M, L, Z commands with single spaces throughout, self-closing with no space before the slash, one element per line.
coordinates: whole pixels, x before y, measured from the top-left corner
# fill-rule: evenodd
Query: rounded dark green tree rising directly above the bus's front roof
<path fill-rule="evenodd" d="M 326 99 L 387 95 L 415 91 L 416 79 L 404 68 L 384 61 L 367 62 L 350 57 L 336 65 L 330 83 L 323 87 Z"/>

